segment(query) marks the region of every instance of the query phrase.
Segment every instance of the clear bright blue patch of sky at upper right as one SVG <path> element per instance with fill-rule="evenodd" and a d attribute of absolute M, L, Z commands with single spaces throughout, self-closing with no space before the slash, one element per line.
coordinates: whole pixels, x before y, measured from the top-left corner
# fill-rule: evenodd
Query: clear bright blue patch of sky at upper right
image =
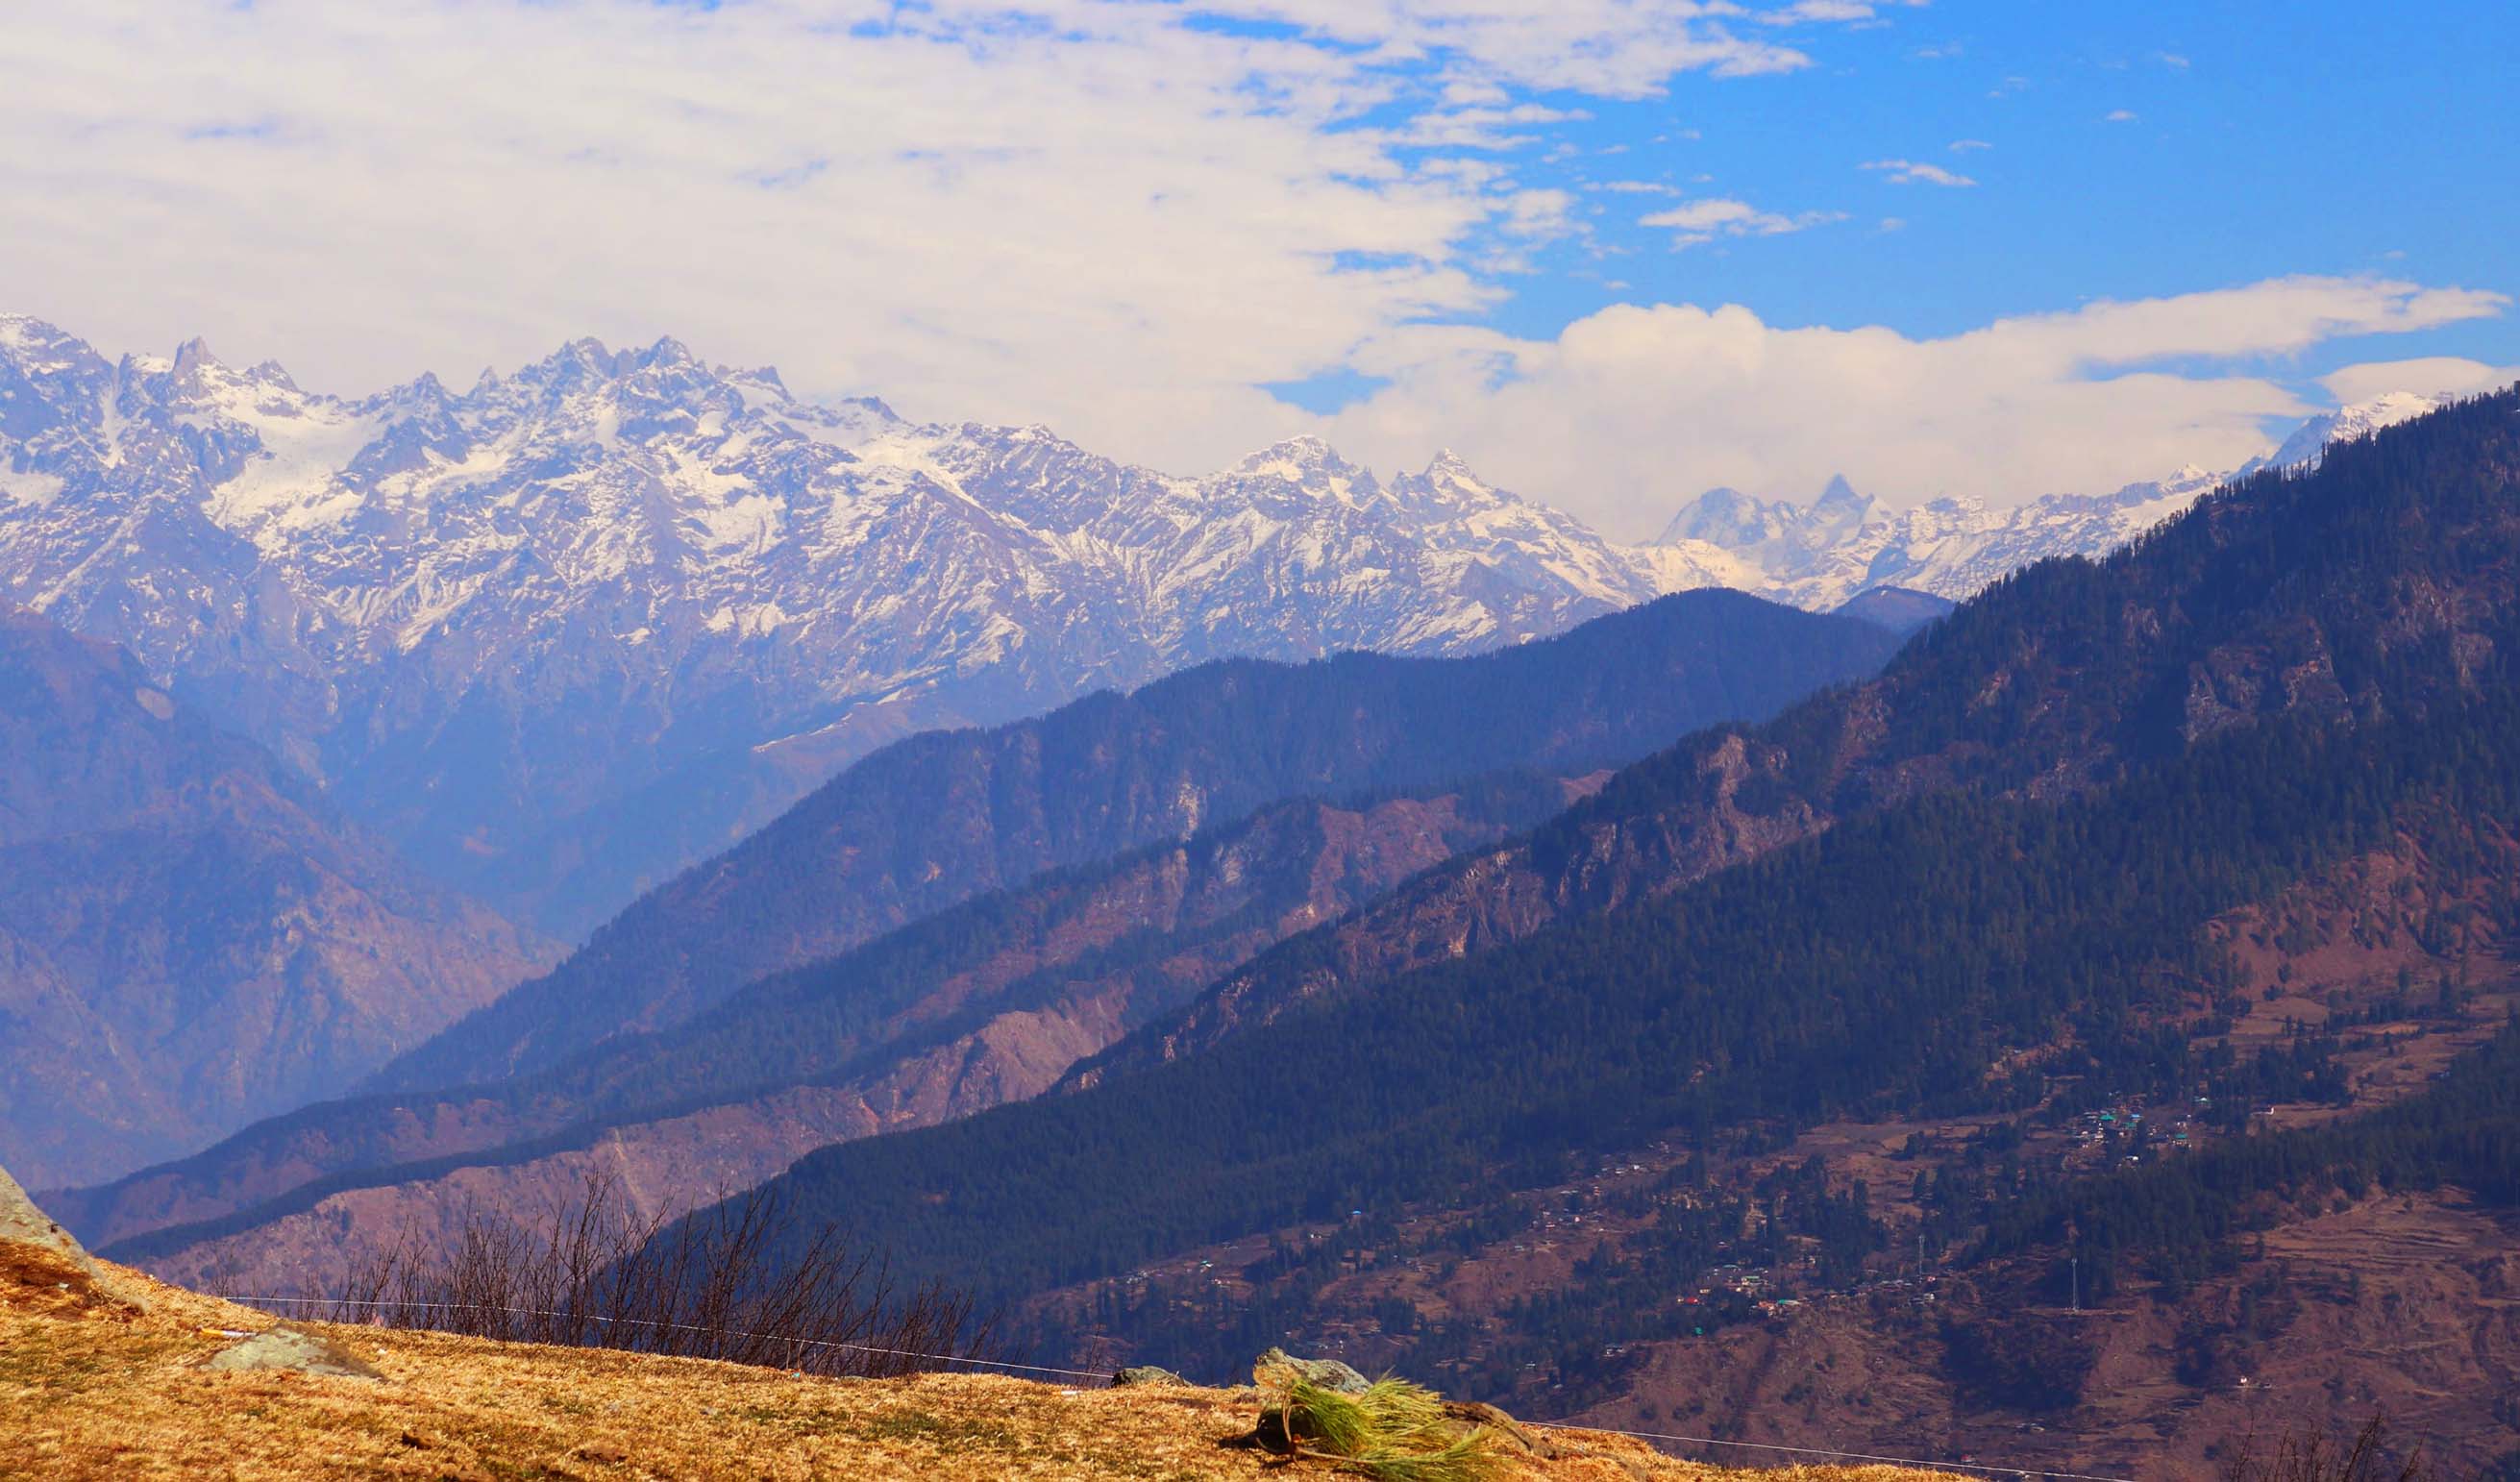
<path fill-rule="evenodd" d="M 1635 197 L 1595 192 L 1593 239 L 1552 247 L 1499 323 L 1545 335 L 1648 297 L 1945 335 L 2084 297 L 2293 272 L 2520 287 L 2515 5 L 2391 20 L 2339 0 L 1938 0 L 1802 45 L 1814 66 L 1772 78 L 1686 76 L 1633 103 L 1542 96 L 1590 116 L 1535 129 L 1540 159 L 1580 154 L 1527 174 L 1570 192 L 1663 181 L 1845 222 L 1668 252 L 1635 227 Z M 1857 169 L 1875 159 L 1976 187 L 1887 184 Z M 1885 219 L 1903 227 L 1882 232 Z M 2512 360 L 2520 335 L 2467 323 L 2419 348 Z"/>

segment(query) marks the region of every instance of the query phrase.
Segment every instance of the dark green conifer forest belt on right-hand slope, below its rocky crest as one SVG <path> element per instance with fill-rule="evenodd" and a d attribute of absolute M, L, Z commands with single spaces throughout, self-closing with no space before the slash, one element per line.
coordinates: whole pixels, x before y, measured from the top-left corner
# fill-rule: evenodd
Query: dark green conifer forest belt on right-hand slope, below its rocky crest
<path fill-rule="evenodd" d="M 922 1275 L 1018 1295 L 1348 1210 L 1477 1205 L 1666 1132 L 2036 1101 L 2069 1038 L 2124 1086 L 2200 1066 L 2155 1016 L 2233 988 L 2208 917 L 2376 844 L 2414 801 L 2520 819 L 2507 696 L 2301 718 L 2071 804 L 1940 794 L 1076 1096 L 819 1152 L 784 1180 Z"/>

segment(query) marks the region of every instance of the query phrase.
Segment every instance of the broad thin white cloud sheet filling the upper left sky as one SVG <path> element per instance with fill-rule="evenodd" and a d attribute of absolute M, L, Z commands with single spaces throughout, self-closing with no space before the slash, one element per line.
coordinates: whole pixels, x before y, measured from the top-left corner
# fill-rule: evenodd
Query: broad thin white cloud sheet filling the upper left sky
<path fill-rule="evenodd" d="M 1300 421 L 1255 383 L 1477 315 L 1567 229 L 1494 154 L 1572 113 L 1535 88 L 1804 66 L 1741 25 L 1724 0 L 45 5 L 0 25 L 0 297 L 348 393 L 675 333 L 799 391 L 1207 466 Z"/>

